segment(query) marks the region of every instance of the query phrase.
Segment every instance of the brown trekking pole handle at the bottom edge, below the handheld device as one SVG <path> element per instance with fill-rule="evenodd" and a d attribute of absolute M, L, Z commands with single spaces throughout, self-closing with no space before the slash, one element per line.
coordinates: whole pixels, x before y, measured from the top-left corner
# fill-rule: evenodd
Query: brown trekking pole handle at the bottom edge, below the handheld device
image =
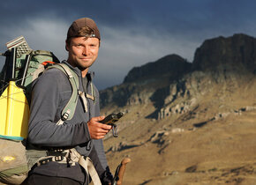
<path fill-rule="evenodd" d="M 121 164 L 117 166 L 117 170 L 116 170 L 112 185 L 122 185 L 125 167 L 128 162 L 131 162 L 131 159 L 124 158 Z"/>

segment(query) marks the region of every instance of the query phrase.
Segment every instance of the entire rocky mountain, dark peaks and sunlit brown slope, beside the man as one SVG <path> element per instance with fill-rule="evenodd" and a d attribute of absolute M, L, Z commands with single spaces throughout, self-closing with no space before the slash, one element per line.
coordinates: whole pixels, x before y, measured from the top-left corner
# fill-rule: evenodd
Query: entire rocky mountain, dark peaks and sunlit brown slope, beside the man
<path fill-rule="evenodd" d="M 192 63 L 179 55 L 134 67 L 101 92 L 102 113 L 123 111 L 104 144 L 124 184 L 256 183 L 256 39 L 204 41 Z"/>

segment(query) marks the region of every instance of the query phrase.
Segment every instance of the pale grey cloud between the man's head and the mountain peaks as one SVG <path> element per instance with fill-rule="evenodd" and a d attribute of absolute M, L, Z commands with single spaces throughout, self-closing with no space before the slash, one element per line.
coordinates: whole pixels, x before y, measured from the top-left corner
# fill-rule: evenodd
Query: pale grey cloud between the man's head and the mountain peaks
<path fill-rule="evenodd" d="M 177 54 L 192 61 L 197 42 L 162 33 L 131 33 L 127 29 L 102 27 L 100 54 L 92 70 L 101 89 L 121 84 L 129 70 L 154 62 L 164 55 Z"/>

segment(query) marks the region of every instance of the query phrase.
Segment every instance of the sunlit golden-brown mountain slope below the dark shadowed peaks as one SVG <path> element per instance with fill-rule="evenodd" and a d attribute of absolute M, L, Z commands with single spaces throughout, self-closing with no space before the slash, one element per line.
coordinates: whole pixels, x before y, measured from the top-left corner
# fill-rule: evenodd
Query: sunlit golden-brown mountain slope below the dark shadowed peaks
<path fill-rule="evenodd" d="M 146 118 L 153 103 L 123 107 L 119 137 L 104 141 L 111 170 L 129 157 L 124 185 L 256 184 L 256 79 L 249 79 L 212 84 L 189 111 L 160 120 Z"/>

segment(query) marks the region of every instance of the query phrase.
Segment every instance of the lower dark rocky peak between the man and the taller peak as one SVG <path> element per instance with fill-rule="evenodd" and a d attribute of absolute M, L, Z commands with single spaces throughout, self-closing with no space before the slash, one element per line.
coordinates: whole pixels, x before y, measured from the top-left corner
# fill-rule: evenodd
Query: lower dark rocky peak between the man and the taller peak
<path fill-rule="evenodd" d="M 146 103 L 156 89 L 177 80 L 191 69 L 192 63 L 179 55 L 167 55 L 154 63 L 134 67 L 122 85 L 101 92 L 101 107 Z"/>

